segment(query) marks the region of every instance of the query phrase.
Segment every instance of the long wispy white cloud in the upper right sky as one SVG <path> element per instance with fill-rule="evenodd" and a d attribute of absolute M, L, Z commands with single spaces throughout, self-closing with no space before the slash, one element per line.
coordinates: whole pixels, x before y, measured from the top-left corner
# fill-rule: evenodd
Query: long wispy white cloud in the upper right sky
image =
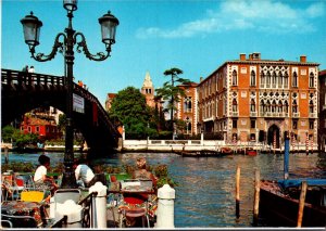
<path fill-rule="evenodd" d="M 315 2 L 305 9 L 291 1 L 228 0 L 218 1 L 220 9 L 209 10 L 206 17 L 187 22 L 176 28 L 140 28 L 138 38 L 187 38 L 225 30 L 255 29 L 269 34 L 314 31 L 312 18 L 323 16 L 325 3 Z M 297 7 L 297 8 L 296 8 Z"/>

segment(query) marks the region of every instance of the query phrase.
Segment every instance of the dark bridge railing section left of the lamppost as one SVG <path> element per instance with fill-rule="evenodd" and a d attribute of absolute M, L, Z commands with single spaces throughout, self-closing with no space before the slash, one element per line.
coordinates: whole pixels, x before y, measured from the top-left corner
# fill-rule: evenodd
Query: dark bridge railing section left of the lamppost
<path fill-rule="evenodd" d="M 26 73 L 13 69 L 1 68 L 2 85 L 18 86 L 64 86 L 65 78 L 63 76 L 52 76 L 38 73 Z"/>

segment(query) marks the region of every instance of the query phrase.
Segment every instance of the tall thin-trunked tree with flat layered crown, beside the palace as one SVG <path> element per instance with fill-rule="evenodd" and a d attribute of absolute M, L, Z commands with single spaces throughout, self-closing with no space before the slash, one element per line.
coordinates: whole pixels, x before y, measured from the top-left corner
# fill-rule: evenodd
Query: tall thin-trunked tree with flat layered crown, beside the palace
<path fill-rule="evenodd" d="M 180 78 L 178 75 L 184 72 L 177 67 L 166 69 L 163 74 L 164 76 L 171 76 L 171 80 L 163 84 L 162 88 L 156 89 L 158 95 L 162 97 L 164 100 L 168 99 L 166 111 L 171 113 L 170 129 L 174 133 L 174 111 L 176 110 L 176 102 L 179 102 L 179 95 L 185 95 L 185 90 L 178 86 L 174 86 L 175 82 L 180 85 L 187 85 L 190 82 L 189 79 Z"/>

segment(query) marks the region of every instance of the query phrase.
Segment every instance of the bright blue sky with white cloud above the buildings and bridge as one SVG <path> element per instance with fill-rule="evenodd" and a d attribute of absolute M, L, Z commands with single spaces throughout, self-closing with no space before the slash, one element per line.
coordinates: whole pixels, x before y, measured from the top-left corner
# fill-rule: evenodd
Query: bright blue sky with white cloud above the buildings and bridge
<path fill-rule="evenodd" d="M 1 68 L 64 73 L 61 53 L 48 62 L 30 57 L 21 20 L 33 11 L 42 22 L 37 53 L 49 54 L 54 38 L 67 27 L 62 0 L 2 0 Z M 75 52 L 75 81 L 87 85 L 104 105 L 108 93 L 141 88 L 149 72 L 154 88 L 171 78 L 199 82 L 240 53 L 262 60 L 308 62 L 326 69 L 326 0 L 79 0 L 73 28 L 86 37 L 91 53 L 104 51 L 98 18 L 111 11 L 120 21 L 111 56 L 102 62 Z"/>

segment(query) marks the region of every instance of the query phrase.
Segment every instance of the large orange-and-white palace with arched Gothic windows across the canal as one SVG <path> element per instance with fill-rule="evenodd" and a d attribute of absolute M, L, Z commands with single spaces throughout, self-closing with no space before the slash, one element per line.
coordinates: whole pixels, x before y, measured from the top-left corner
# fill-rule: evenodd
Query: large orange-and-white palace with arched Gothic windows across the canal
<path fill-rule="evenodd" d="M 262 60 L 261 53 L 226 61 L 197 87 L 198 132 L 224 140 L 317 142 L 318 65 L 300 61 Z"/>

